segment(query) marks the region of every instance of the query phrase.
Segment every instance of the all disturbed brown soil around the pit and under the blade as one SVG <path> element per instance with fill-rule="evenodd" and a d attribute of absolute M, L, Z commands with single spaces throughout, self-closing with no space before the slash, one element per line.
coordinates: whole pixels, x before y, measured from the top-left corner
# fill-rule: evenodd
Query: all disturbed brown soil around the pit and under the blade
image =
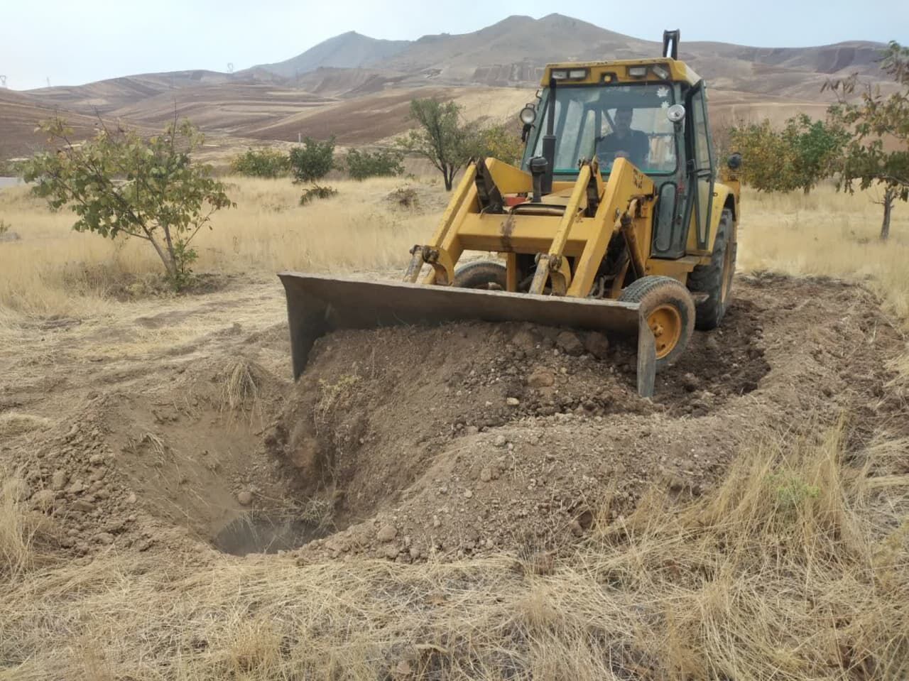
<path fill-rule="evenodd" d="M 0 459 L 74 556 L 553 556 L 649 486 L 703 494 L 759 433 L 902 423 L 884 386 L 904 340 L 873 295 L 771 275 L 734 295 L 652 400 L 629 348 L 529 324 L 336 332 L 293 385 L 270 282 L 95 330 L 53 320 L 6 367 Z M 112 349 L 189 324 L 192 342 Z"/>

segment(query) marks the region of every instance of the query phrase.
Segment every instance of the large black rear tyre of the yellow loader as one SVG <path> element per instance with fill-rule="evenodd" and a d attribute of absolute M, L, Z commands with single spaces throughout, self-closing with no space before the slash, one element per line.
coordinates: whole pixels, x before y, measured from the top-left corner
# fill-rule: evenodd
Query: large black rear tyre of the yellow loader
<path fill-rule="evenodd" d="M 737 247 L 732 236 L 733 214 L 724 208 L 716 230 L 710 265 L 697 265 L 688 275 L 688 290 L 707 294 L 706 299 L 695 305 L 694 325 L 702 331 L 710 331 L 720 325 L 732 300 Z"/>

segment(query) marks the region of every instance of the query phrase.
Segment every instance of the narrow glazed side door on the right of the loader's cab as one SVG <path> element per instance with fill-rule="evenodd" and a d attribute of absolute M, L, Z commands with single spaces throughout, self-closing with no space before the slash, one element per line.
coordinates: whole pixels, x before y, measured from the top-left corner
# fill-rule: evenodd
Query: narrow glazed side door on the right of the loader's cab
<path fill-rule="evenodd" d="M 707 95 L 704 81 L 688 92 L 688 224 L 694 230 L 695 250 L 705 251 L 710 243 L 710 211 L 714 198 L 714 168 L 711 163 L 713 149 L 707 120 Z M 689 237 L 689 248 L 693 245 Z"/>

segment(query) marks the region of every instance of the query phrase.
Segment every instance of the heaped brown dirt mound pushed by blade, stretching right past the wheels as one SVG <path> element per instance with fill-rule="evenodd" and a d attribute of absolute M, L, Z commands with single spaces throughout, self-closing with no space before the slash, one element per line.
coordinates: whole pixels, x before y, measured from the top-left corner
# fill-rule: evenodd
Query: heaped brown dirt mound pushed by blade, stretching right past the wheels
<path fill-rule="evenodd" d="M 739 283 L 724 328 L 695 335 L 653 400 L 634 391 L 632 352 L 602 335 L 343 331 L 317 343 L 266 445 L 347 526 L 303 556 L 552 550 L 654 481 L 701 494 L 759 431 L 796 436 L 866 401 L 885 380 L 878 353 L 898 345 L 866 292 L 775 277 Z M 858 365 L 865 385 L 844 394 Z"/>

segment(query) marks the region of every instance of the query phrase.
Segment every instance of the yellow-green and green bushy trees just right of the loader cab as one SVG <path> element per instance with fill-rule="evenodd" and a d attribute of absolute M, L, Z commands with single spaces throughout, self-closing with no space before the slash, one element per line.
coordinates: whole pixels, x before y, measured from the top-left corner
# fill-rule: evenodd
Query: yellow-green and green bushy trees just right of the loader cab
<path fill-rule="evenodd" d="M 764 192 L 801 189 L 807 194 L 839 169 L 848 138 L 838 121 L 815 121 L 804 114 L 789 118 L 782 130 L 765 119 L 729 131 L 730 147 L 744 157 L 744 182 Z"/>

